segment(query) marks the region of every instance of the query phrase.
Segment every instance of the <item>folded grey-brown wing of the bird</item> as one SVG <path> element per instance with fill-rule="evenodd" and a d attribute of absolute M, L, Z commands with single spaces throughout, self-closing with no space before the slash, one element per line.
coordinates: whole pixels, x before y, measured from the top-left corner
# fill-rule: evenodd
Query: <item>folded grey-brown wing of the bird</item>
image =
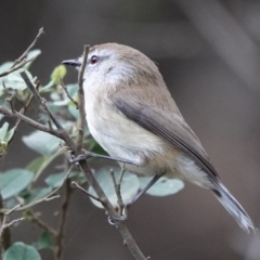
<path fill-rule="evenodd" d="M 167 114 L 132 98 L 121 99 L 114 94 L 110 99 L 117 110 L 127 118 L 169 141 L 176 148 L 192 158 L 209 177 L 213 179 L 218 177 L 200 142 L 182 117 L 177 114 Z"/>

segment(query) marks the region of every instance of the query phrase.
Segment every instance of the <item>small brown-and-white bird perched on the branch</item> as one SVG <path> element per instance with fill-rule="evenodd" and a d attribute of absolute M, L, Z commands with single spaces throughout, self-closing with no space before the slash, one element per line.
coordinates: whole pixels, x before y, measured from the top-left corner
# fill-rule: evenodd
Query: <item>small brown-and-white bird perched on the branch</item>
<path fill-rule="evenodd" d="M 80 69 L 82 56 L 65 65 Z M 84 109 L 92 136 L 125 169 L 139 176 L 179 178 L 210 190 L 246 232 L 256 227 L 221 183 L 200 141 L 184 120 L 157 65 L 136 49 L 103 43 L 89 50 Z"/>

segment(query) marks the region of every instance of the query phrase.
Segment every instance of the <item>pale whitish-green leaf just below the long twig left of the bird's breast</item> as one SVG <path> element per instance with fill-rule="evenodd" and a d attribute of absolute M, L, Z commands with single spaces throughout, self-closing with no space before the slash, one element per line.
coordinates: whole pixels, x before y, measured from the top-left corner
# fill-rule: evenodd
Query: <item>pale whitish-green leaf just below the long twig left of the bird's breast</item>
<path fill-rule="evenodd" d="M 29 148 L 41 155 L 51 155 L 57 151 L 60 139 L 42 131 L 35 131 L 29 135 L 22 138 L 23 142 Z"/>

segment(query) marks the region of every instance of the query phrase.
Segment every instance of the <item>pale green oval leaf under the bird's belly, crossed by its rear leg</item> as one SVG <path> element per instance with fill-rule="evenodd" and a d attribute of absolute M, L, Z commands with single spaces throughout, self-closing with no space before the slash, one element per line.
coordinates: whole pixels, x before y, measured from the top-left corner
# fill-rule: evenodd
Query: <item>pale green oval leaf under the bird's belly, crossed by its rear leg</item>
<path fill-rule="evenodd" d="M 152 180 L 151 177 L 140 177 L 140 188 L 144 188 L 148 182 Z M 179 179 L 168 179 L 167 177 L 161 177 L 147 192 L 146 194 L 152 196 L 168 196 L 178 193 L 184 187 L 183 181 Z"/>

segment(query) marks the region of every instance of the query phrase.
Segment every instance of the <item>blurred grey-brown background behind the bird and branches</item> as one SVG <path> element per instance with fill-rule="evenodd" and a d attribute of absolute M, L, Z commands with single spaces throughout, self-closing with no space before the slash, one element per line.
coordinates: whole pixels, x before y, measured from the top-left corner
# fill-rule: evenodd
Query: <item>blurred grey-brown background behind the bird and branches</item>
<path fill-rule="evenodd" d="M 123 43 L 155 61 L 222 182 L 260 226 L 259 1 L 1 1 L 0 64 L 17 58 L 42 26 L 46 36 L 37 43 L 42 55 L 31 68 L 42 83 L 86 43 Z M 65 82 L 76 79 L 70 69 Z M 30 131 L 23 126 L 20 134 Z M 16 136 L 0 167 L 23 167 L 31 156 Z M 39 206 L 48 207 L 43 218 L 53 226 L 58 206 L 58 200 Z M 173 196 L 145 195 L 127 224 L 152 259 L 260 259 L 259 234 L 246 234 L 210 192 L 188 183 Z M 12 239 L 31 243 L 37 232 L 23 222 L 12 229 Z M 79 192 L 65 233 L 64 260 L 132 259 L 104 212 Z M 42 250 L 42 258 L 52 255 Z"/>

